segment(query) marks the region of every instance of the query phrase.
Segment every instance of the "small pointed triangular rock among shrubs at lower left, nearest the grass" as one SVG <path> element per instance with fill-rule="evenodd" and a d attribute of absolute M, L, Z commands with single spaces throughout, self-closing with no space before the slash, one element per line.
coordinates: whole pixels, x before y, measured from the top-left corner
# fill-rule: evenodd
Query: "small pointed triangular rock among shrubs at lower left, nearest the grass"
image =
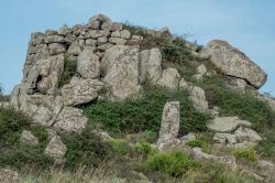
<path fill-rule="evenodd" d="M 55 160 L 61 160 L 67 152 L 67 147 L 63 143 L 59 136 L 55 136 L 48 142 L 44 153 Z"/>

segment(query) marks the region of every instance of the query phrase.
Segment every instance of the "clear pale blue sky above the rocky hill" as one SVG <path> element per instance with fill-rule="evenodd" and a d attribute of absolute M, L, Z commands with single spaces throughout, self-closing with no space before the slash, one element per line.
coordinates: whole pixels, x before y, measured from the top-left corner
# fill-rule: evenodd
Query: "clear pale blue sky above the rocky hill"
<path fill-rule="evenodd" d="M 223 39 L 267 74 L 262 88 L 275 96 L 274 0 L 2 0 L 0 83 L 9 94 L 22 78 L 31 32 L 86 23 L 97 13 L 152 29 L 168 26 L 206 44 Z"/>

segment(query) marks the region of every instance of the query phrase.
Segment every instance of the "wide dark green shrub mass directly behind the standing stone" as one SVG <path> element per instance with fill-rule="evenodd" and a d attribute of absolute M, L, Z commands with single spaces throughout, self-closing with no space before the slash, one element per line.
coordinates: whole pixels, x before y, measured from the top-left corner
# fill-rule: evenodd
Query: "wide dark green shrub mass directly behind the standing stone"
<path fill-rule="evenodd" d="M 196 111 L 185 92 L 169 92 L 163 88 L 145 88 L 144 96 L 122 103 L 98 101 L 84 107 L 89 125 L 100 123 L 112 134 L 127 134 L 150 130 L 158 133 L 162 112 L 166 101 L 180 103 L 179 136 L 190 131 L 205 131 L 208 115 Z"/>

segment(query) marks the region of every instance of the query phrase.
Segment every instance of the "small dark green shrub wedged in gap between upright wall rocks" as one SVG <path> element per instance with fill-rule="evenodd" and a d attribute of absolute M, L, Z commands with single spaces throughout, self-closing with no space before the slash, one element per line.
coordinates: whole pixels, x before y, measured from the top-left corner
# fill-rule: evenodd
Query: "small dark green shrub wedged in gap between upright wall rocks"
<path fill-rule="evenodd" d="M 72 77 L 76 74 L 77 61 L 73 58 L 64 60 L 64 71 L 59 78 L 59 87 L 69 84 Z"/>

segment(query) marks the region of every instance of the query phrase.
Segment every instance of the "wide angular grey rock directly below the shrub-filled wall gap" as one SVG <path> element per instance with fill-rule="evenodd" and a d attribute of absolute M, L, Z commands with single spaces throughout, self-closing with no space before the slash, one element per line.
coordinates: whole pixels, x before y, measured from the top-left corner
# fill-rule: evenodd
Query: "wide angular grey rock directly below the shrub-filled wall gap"
<path fill-rule="evenodd" d="M 73 77 L 68 85 L 63 86 L 62 96 L 65 106 L 79 106 L 97 99 L 103 87 L 98 79 Z"/>

